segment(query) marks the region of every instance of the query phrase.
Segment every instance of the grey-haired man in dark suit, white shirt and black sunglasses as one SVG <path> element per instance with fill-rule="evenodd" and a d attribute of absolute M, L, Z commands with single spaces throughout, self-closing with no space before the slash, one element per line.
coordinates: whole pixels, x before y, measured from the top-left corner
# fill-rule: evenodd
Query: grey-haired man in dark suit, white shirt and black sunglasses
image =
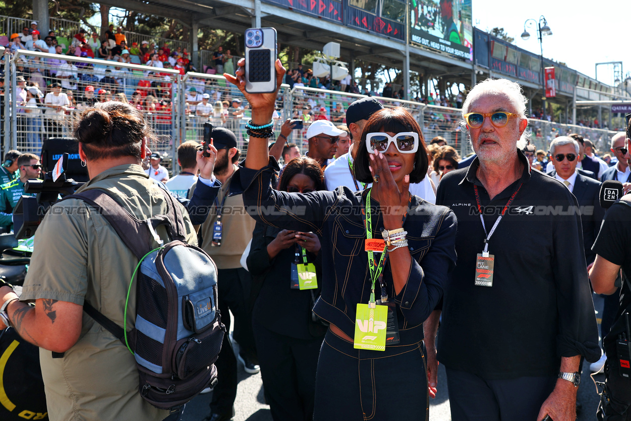
<path fill-rule="evenodd" d="M 562 182 L 579 202 L 585 260 L 589 265 L 596 257 L 591 246 L 598 236 L 604 217 L 604 209 L 598 200 L 600 182 L 576 170 L 579 163 L 579 144 L 571 137 L 559 136 L 554 139 L 550 144 L 550 154 L 555 168 L 550 175 Z"/>

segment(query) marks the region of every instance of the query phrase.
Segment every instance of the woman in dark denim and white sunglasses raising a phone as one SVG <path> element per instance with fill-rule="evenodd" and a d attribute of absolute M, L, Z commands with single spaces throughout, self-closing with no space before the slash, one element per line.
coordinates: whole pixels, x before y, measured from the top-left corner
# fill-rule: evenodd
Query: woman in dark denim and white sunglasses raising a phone
<path fill-rule="evenodd" d="M 247 93 L 243 65 L 241 60 L 236 76 L 224 74 L 252 108 L 247 157 L 230 191 L 242 192 L 257 221 L 321 237 L 322 293 L 314 312 L 331 325 L 318 360 L 314 420 L 427 420 L 423 321 L 454 267 L 456 218 L 408 192 L 410 182 L 427 175 L 418 123 L 403 108 L 370 117 L 353 166 L 358 181 L 373 183 L 370 189 L 273 190 L 278 164 L 268 155 L 266 127 L 276 92 Z M 277 60 L 277 86 L 284 74 Z M 386 253 L 366 251 L 384 250 L 381 238 L 391 241 Z M 383 299 L 375 305 L 377 297 Z M 384 335 L 386 318 L 391 323 Z"/>

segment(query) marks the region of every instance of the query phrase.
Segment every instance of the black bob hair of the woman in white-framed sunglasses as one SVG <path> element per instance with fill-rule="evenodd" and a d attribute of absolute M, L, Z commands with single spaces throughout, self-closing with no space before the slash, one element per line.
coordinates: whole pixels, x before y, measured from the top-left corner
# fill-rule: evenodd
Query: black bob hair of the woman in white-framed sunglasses
<path fill-rule="evenodd" d="M 366 135 L 373 132 L 416 132 L 418 133 L 418 150 L 414 169 L 410 173 L 410 183 L 420 183 L 427 176 L 428 158 L 427 146 L 421 132 L 421 127 L 410 112 L 403 107 L 384 108 L 373 113 L 363 127 L 362 141 L 360 141 L 355 157 L 355 178 L 362 183 L 372 183 L 369 170 L 368 149 L 366 149 Z"/>

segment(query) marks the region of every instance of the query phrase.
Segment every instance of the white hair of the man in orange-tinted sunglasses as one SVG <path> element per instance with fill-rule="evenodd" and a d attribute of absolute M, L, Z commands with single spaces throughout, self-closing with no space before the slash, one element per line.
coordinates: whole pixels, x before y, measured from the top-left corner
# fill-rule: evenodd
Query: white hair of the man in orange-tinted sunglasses
<path fill-rule="evenodd" d="M 469 91 L 466 99 L 463 103 L 463 119 L 459 124 L 463 131 L 466 131 L 466 121 L 464 121 L 464 115 L 470 112 L 471 103 L 484 95 L 504 95 L 509 102 L 515 108 L 517 114 L 522 118 L 528 118 L 526 114 L 526 104 L 528 104 L 528 98 L 522 93 L 521 85 L 517 82 L 509 81 L 508 79 L 486 79 L 476 84 L 476 86 Z M 522 133 L 519 141 L 517 141 L 517 148 L 524 149 L 526 145 L 530 143 L 531 130 L 526 127 L 526 130 Z M 469 139 L 470 142 L 470 139 Z"/>

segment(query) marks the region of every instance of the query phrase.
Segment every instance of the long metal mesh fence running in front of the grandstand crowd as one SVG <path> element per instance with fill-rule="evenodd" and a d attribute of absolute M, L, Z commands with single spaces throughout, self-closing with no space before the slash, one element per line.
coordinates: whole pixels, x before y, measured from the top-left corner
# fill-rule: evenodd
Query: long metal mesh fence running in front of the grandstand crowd
<path fill-rule="evenodd" d="M 3 52 L 0 47 L 0 54 Z M 19 56 L 26 56 L 25 67 L 21 70 L 16 67 Z M 161 141 L 152 148 L 158 153 L 174 157 L 181 142 L 201 141 L 206 121 L 232 129 L 242 153 L 247 149 L 245 124 L 251 113 L 242 93 L 227 83 L 223 76 L 197 72 L 181 76 L 170 69 L 25 50 L 20 50 L 13 57 L 5 57 L 10 59 L 4 64 L 5 90 L 0 103 L 3 105 L 0 107 L 3 110 L 0 120 L 3 130 L 0 131 L 4 135 L 4 153 L 9 149 L 18 149 L 39 154 L 44 139 L 70 136 L 73 118 L 82 108 L 109 96 L 113 100 L 122 100 L 121 94 L 144 112 L 148 123 L 158 134 Z M 18 84 L 18 74 L 25 75 L 27 83 Z M 61 84 L 61 88 L 54 88 L 54 83 Z M 23 87 L 35 84 L 42 93 L 41 97 L 37 91 L 34 91 L 35 95 L 21 93 Z M 93 94 L 86 91 L 88 85 L 95 89 Z M 100 90 L 104 92 L 99 94 Z M 205 95 L 208 98 L 204 98 Z M 345 124 L 346 109 L 358 98 L 363 98 L 363 95 L 304 86 L 290 89 L 283 84 L 276 103 L 274 129 L 279 134 L 280 125 L 286 118 L 302 119 L 304 128 L 293 130 L 288 142 L 296 143 L 304 153 L 308 149 L 306 133 L 309 125 L 322 118 L 335 125 Z M 461 110 L 393 98 L 375 98 L 384 107 L 407 108 L 422 127 L 426 142 L 442 136 L 463 158 L 471 153 L 467 134 L 459 127 Z M 240 102 L 234 102 L 235 99 Z M 221 108 L 218 101 L 221 101 Z M 606 151 L 615 133 L 534 119 L 530 120 L 529 127 L 533 132 L 531 142 L 537 149 L 545 151 L 554 137 L 571 132 L 581 134 L 593 141 L 598 149 Z M 174 172 L 179 172 L 179 169 L 174 168 Z"/>

